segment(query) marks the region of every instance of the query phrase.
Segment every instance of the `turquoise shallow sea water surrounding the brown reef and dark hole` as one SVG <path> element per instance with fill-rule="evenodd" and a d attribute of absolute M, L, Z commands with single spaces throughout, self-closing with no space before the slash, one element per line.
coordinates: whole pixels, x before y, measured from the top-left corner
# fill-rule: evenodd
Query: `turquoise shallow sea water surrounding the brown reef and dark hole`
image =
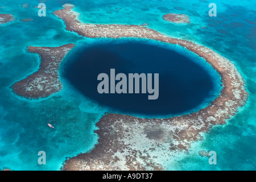
<path fill-rule="evenodd" d="M 42 100 L 20 98 L 9 88 L 38 69 L 39 56 L 28 53 L 27 46 L 67 43 L 83 46 L 96 41 L 65 31 L 64 23 L 52 15 L 64 3 L 74 3 L 82 22 L 148 23 L 150 28 L 203 44 L 233 61 L 250 93 L 247 104 L 228 124 L 215 126 L 204 134 L 204 140 L 194 143 L 189 154 L 179 154 L 170 160 L 167 169 L 255 170 L 256 2 L 214 2 L 217 17 L 208 16 L 207 1 L 47 1 L 47 16 L 39 17 L 34 8 L 37 2 L 0 1 L 0 13 L 10 13 L 16 18 L 0 26 L 0 168 L 59 170 L 65 157 L 89 151 L 97 142 L 93 133 L 95 123 L 108 108 L 82 97 L 65 80 L 61 80 L 64 84 L 61 92 Z M 21 3 L 30 3 L 30 7 L 24 9 Z M 166 13 L 187 14 L 191 23 L 164 22 L 162 15 Z M 19 21 L 24 18 L 32 18 L 34 22 Z M 49 118 L 55 130 L 47 126 Z M 38 164 L 40 150 L 46 151 L 46 165 Z M 198 155 L 199 150 L 216 151 L 217 165 L 209 165 L 208 159 Z"/>

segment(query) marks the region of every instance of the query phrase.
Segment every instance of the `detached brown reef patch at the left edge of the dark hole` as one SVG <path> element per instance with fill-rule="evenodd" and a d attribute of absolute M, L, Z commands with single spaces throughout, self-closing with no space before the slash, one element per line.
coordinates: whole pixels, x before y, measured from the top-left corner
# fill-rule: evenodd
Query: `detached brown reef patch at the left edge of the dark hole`
<path fill-rule="evenodd" d="M 59 80 L 59 64 L 74 46 L 75 44 L 60 47 L 29 46 L 28 52 L 39 54 L 40 68 L 32 75 L 15 82 L 14 93 L 25 98 L 38 99 L 59 92 L 62 88 Z"/>

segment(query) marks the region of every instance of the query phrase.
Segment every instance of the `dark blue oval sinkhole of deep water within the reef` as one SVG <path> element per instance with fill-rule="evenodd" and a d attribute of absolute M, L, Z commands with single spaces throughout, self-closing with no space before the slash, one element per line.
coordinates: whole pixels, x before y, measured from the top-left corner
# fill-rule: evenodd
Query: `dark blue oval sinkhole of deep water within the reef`
<path fill-rule="evenodd" d="M 62 75 L 84 96 L 124 113 L 180 114 L 212 101 L 214 89 L 218 88 L 209 68 L 189 55 L 143 42 L 94 44 L 77 51 Z M 148 100 L 149 93 L 98 93 L 101 81 L 97 77 L 106 73 L 110 81 L 110 69 L 115 69 L 115 75 L 125 73 L 127 82 L 129 73 L 152 73 L 153 77 L 159 73 L 158 99 Z"/>

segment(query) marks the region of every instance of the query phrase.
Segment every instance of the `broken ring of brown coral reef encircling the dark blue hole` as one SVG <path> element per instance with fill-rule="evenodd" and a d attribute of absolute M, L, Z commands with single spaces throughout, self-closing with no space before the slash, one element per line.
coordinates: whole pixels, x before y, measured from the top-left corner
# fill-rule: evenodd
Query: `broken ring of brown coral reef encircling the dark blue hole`
<path fill-rule="evenodd" d="M 64 162 L 63 170 L 162 170 L 166 160 L 177 152 L 188 152 L 191 143 L 202 139 L 214 125 L 223 125 L 247 100 L 245 82 L 236 66 L 212 49 L 171 38 L 151 28 L 124 24 L 81 23 L 79 14 L 66 4 L 54 14 L 64 20 L 68 31 L 88 38 L 141 38 L 177 44 L 203 57 L 220 74 L 222 90 L 209 106 L 195 113 L 172 118 L 138 118 L 123 114 L 106 114 L 96 123 L 98 144 L 92 151 Z M 167 16 L 170 18 L 170 16 Z M 61 89 L 57 74 L 59 63 L 75 46 L 28 47 L 39 53 L 39 71 L 13 85 L 19 96 L 42 98 Z"/>

